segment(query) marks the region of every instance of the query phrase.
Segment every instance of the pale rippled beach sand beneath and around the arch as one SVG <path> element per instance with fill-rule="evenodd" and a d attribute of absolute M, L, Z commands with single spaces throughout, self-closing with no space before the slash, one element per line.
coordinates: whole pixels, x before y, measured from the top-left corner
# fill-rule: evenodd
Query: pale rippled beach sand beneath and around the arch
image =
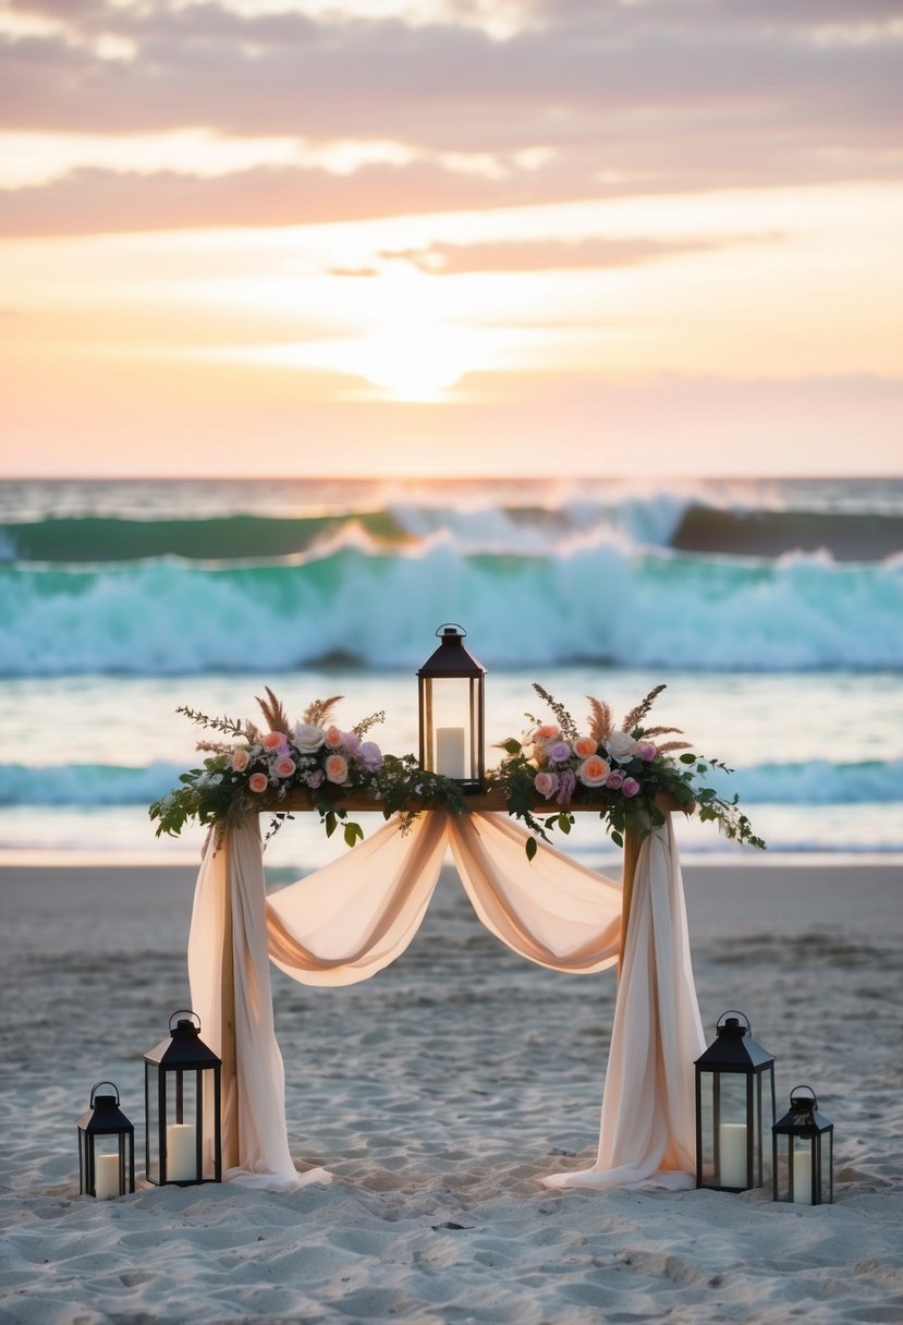
<path fill-rule="evenodd" d="M 395 967 L 318 991 L 274 971 L 299 1167 L 77 1195 L 75 1118 L 118 1083 L 143 1174 L 142 1055 L 185 1006 L 193 872 L 0 871 L 0 1322 L 903 1321 L 903 874 L 689 868 L 711 1039 L 739 1007 L 835 1124 L 837 1200 L 768 1189 L 549 1192 L 593 1157 L 612 973 L 516 959 L 442 880 Z"/>

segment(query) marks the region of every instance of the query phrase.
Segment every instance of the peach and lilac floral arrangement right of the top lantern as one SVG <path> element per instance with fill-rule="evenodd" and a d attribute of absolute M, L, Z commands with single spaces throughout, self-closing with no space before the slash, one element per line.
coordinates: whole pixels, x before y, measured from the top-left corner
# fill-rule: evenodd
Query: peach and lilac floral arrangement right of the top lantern
<path fill-rule="evenodd" d="M 568 833 L 573 815 L 560 808 L 536 818 L 538 800 L 560 807 L 580 802 L 598 804 L 612 840 L 624 845 L 625 829 L 640 839 L 665 822 L 655 804 L 665 792 L 686 811 L 695 810 L 700 820 L 715 820 L 727 837 L 764 848 L 749 820 L 737 810 L 737 796 L 724 799 L 699 779 L 710 768 L 732 770 L 718 759 L 694 754 L 689 742 L 679 739 L 677 727 L 646 726 L 646 717 L 655 698 L 665 689 L 657 685 L 626 717 L 616 723 L 608 704 L 588 696 L 591 713 L 580 730 L 568 710 L 540 685 L 536 693 L 552 710 L 555 722 L 540 722 L 531 714 L 530 729 L 522 739 L 502 743 L 507 758 L 494 776 L 503 788 L 508 814 L 523 819 L 539 837 L 548 840 L 548 829 Z M 662 737 L 669 739 L 662 741 Z M 678 739 L 674 739 L 674 738 Z M 677 755 L 675 753 L 682 751 Z M 536 836 L 527 840 L 527 856 L 536 853 Z"/>

